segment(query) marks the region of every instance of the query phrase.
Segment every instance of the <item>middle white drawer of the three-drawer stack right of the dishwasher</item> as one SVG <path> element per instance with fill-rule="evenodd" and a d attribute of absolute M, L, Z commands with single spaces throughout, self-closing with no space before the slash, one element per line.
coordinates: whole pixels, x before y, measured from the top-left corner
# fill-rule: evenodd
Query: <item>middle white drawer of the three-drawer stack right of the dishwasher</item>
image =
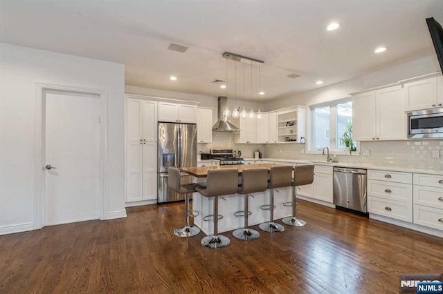
<path fill-rule="evenodd" d="M 413 185 L 368 179 L 368 195 L 412 203 Z"/>

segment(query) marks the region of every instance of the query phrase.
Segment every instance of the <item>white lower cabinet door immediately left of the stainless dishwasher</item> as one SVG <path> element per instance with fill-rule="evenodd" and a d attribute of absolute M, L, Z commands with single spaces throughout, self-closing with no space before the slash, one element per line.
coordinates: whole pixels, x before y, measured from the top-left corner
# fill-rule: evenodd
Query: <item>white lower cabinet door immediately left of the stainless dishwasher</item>
<path fill-rule="evenodd" d="M 333 203 L 332 197 L 332 166 L 320 166 L 314 167 L 314 188 L 313 198 L 324 202 Z"/>

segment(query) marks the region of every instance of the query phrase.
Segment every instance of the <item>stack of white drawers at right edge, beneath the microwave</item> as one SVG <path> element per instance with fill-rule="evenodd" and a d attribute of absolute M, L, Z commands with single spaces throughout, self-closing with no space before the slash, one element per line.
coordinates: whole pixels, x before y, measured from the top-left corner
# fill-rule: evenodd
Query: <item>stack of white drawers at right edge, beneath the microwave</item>
<path fill-rule="evenodd" d="M 443 230 L 443 176 L 414 174 L 414 223 Z"/>

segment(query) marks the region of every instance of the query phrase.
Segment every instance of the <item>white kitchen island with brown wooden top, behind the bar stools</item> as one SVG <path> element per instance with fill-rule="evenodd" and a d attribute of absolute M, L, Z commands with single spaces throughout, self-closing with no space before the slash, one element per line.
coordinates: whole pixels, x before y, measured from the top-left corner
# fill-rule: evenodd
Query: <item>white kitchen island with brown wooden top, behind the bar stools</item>
<path fill-rule="evenodd" d="M 245 168 L 268 168 L 271 166 L 278 166 L 278 164 L 254 164 L 253 166 L 246 166 L 243 164 L 229 165 L 229 166 L 201 166 L 201 167 L 186 167 L 180 168 L 182 172 L 188 173 L 194 176 L 195 183 L 206 186 L 206 176 L 208 170 L 217 170 L 225 168 L 237 168 L 239 173 L 239 184 L 242 183 L 242 171 Z M 253 193 L 253 196 L 249 196 L 249 226 L 255 224 L 262 224 L 269 222 L 269 210 L 262 210 L 260 207 L 263 205 L 269 205 L 270 191 L 266 190 L 262 193 Z M 282 219 L 283 217 L 289 217 L 292 213 L 291 206 L 284 206 L 284 203 L 291 202 L 292 194 L 291 187 L 278 188 L 274 193 L 274 219 Z M 204 221 L 204 217 L 213 214 L 213 201 L 214 197 L 205 197 L 200 193 L 194 193 L 192 195 L 192 209 L 197 211 L 199 215 L 194 218 L 194 224 L 201 228 L 206 235 L 210 235 L 213 232 L 213 222 Z M 222 219 L 218 222 L 219 233 L 233 231 L 237 228 L 242 228 L 244 225 L 243 217 L 235 217 L 235 213 L 243 210 L 244 195 L 233 194 L 219 197 L 219 215 L 223 215 Z"/>

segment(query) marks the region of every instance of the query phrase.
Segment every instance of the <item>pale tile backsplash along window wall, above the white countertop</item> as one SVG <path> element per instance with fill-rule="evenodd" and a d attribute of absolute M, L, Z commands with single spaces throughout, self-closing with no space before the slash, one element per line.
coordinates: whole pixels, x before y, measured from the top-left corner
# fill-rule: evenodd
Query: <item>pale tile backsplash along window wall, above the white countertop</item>
<path fill-rule="evenodd" d="M 269 144 L 264 148 L 264 157 L 300 160 L 325 160 L 325 155 L 300 154 L 302 144 Z M 337 155 L 339 162 L 375 164 L 443 170 L 443 140 L 365 141 L 361 153 L 370 150 L 370 156 L 358 154 Z M 433 157 L 438 150 L 440 157 Z M 334 156 L 334 153 L 330 154 Z"/>

